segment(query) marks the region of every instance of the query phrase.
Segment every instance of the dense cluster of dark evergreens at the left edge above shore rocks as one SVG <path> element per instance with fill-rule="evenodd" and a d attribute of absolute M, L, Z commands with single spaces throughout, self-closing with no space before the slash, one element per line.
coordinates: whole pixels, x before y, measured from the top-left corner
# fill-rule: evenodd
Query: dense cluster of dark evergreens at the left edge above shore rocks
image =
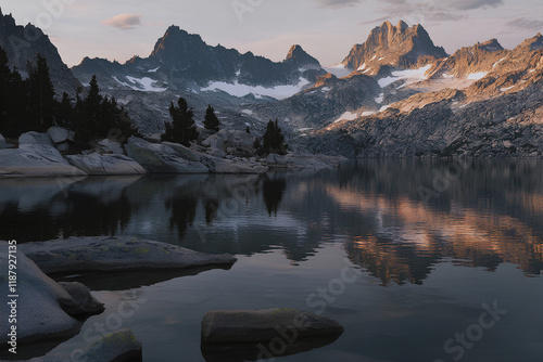
<path fill-rule="evenodd" d="M 11 70 L 8 55 L 0 48 L 0 133 L 17 138 L 28 131 L 46 132 L 52 126 L 76 131 L 76 142 L 87 145 L 98 139 L 116 134 L 116 141 L 137 133 L 123 106 L 115 98 L 102 96 L 96 76 L 85 98 L 77 91 L 76 100 L 64 93 L 59 101 L 43 56 L 36 66 L 28 64 L 28 78 Z"/>

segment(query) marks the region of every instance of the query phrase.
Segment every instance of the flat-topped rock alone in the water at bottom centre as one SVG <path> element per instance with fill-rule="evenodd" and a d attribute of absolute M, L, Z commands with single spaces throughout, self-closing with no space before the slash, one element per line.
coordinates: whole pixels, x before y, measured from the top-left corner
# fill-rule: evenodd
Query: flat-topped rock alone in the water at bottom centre
<path fill-rule="evenodd" d="M 265 342 L 286 335 L 298 338 L 340 335 L 336 321 L 287 308 L 210 311 L 202 319 L 203 344 Z"/>

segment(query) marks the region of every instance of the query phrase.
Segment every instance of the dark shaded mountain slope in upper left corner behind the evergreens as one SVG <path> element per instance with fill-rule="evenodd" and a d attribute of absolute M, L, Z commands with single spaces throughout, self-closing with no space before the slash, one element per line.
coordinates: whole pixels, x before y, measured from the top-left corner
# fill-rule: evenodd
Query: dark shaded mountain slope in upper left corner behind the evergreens
<path fill-rule="evenodd" d="M 16 68 L 23 77 L 28 76 L 27 65 L 36 65 L 38 54 L 47 59 L 51 81 L 55 93 L 66 92 L 75 95 L 79 81 L 62 61 L 58 49 L 49 37 L 31 24 L 21 26 L 15 24 L 11 14 L 3 15 L 0 9 L 0 47 L 8 53 L 9 64 Z"/>

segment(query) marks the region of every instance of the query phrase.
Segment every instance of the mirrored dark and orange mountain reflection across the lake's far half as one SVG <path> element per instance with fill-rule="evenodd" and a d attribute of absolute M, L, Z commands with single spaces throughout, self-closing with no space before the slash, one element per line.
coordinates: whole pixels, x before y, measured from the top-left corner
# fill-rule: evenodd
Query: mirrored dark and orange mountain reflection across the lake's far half
<path fill-rule="evenodd" d="M 337 243 L 382 285 L 421 284 L 447 259 L 540 275 L 543 164 L 450 166 L 365 160 L 318 173 L 4 179 L 0 240 L 134 235 L 206 253 L 281 249 L 292 263 Z"/>

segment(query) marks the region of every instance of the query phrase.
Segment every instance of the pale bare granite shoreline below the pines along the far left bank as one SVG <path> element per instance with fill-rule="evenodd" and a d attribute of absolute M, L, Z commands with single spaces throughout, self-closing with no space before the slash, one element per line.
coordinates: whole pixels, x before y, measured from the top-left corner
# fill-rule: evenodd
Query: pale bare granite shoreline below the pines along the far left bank
<path fill-rule="evenodd" d="M 233 132 L 230 134 L 230 132 Z M 65 133 L 65 134 L 64 134 Z M 223 134 L 224 133 L 224 134 Z M 212 135 L 225 140 L 207 142 L 207 147 L 185 147 L 176 143 L 160 143 L 131 137 L 125 145 L 103 140 L 96 148 L 76 155 L 64 155 L 70 148 L 68 131 L 59 127 L 48 133 L 27 132 L 20 137 L 17 148 L 7 148 L 0 135 L 0 177 L 81 177 L 124 176 L 144 173 L 265 173 L 269 170 L 304 170 L 334 168 L 343 157 L 313 154 L 247 157 L 251 152 L 241 145 L 236 131 L 225 130 Z M 241 132 L 244 133 L 244 132 Z M 64 135 L 65 137 L 64 137 Z M 237 137 L 237 138 L 236 138 Z M 228 138 L 232 145 L 228 146 Z M 235 140 L 238 140 L 236 143 Z M 251 146 L 252 147 L 252 146 Z M 227 154 L 231 152 L 231 154 Z M 241 152 L 236 156 L 236 152 Z"/>

